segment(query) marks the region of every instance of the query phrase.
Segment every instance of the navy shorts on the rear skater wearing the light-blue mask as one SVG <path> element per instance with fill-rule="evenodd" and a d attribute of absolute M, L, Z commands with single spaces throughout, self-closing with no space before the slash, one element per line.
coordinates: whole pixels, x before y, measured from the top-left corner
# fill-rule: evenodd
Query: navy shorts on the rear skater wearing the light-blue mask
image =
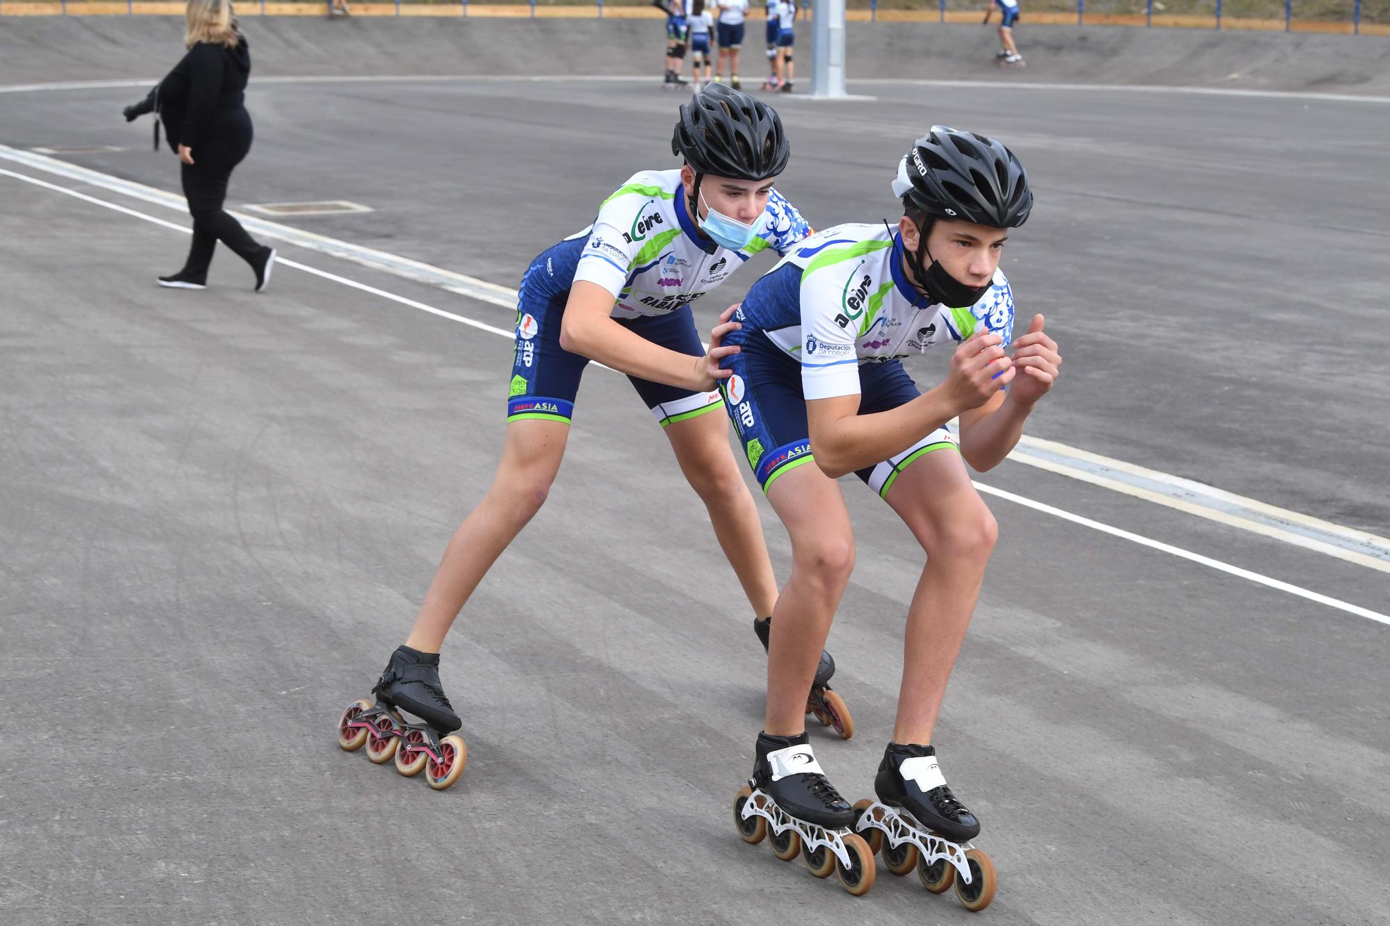
<path fill-rule="evenodd" d="M 584 242 L 577 238 L 550 247 L 531 261 L 521 278 L 507 421 L 539 419 L 569 424 L 574 414 L 574 396 L 589 359 L 560 346 L 560 323 Z M 619 318 L 617 323 L 663 348 L 692 357 L 705 356 L 689 306 L 664 316 Z M 689 392 L 638 377 L 628 377 L 628 381 L 663 428 L 720 405 L 719 392 Z"/>

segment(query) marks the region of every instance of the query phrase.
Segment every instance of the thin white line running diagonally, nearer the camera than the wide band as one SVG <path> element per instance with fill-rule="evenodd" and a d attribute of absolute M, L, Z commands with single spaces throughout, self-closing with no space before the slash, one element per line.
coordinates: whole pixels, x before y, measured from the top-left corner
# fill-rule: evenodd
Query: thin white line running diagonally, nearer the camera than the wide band
<path fill-rule="evenodd" d="M 51 189 L 51 190 L 56 190 L 58 193 L 65 193 L 68 196 L 75 196 L 76 199 L 81 199 L 83 202 L 95 203 L 97 206 L 103 206 L 106 209 L 111 209 L 111 210 L 122 213 L 125 216 L 133 216 L 136 218 L 142 218 L 145 221 L 154 222 L 156 225 L 163 225 L 165 228 L 172 228 L 172 229 L 183 232 L 183 234 L 190 234 L 190 229 L 185 228 L 182 225 L 175 225 L 174 222 L 167 222 L 163 218 L 156 218 L 154 216 L 146 216 L 145 213 L 138 213 L 133 209 L 126 209 L 124 206 L 117 206 L 115 203 L 108 203 L 106 200 L 96 199 L 95 196 L 88 196 L 86 193 L 82 193 L 82 192 L 78 192 L 78 190 L 74 190 L 74 189 L 67 189 L 65 186 L 58 186 L 56 184 L 49 184 L 47 181 L 40 181 L 38 178 L 26 177 L 24 174 L 15 174 L 14 171 L 7 171 L 7 170 L 3 170 L 3 168 L 0 168 L 0 175 L 13 177 L 15 179 L 21 179 L 21 181 L 24 181 L 26 184 L 33 184 L 35 186 L 42 186 L 44 189 Z M 309 267 L 307 264 L 302 264 L 302 263 L 295 261 L 295 260 L 277 260 L 277 263 L 282 263 L 286 267 L 293 267 L 296 270 L 303 270 L 304 273 L 313 274 L 316 277 L 321 277 L 324 279 L 331 279 L 334 282 L 343 284 L 345 286 L 352 286 L 353 289 L 359 289 L 361 292 L 371 293 L 374 296 L 381 296 L 382 299 L 389 299 L 391 302 L 396 302 L 396 303 L 400 303 L 403 306 L 410 306 L 411 309 L 420 309 L 421 311 L 428 311 L 430 314 L 439 316 L 441 318 L 449 318 L 450 321 L 457 321 L 457 323 L 466 324 L 470 328 L 478 328 L 480 331 L 486 331 L 488 334 L 495 334 L 495 335 L 499 335 L 499 336 L 507 338 L 507 339 L 516 338 L 516 331 L 509 331 L 506 328 L 496 328 L 493 325 L 484 324 L 481 321 L 474 321 L 473 318 L 466 318 L 463 316 L 457 316 L 457 314 L 455 314 L 452 311 L 445 311 L 443 309 L 435 309 L 434 306 L 425 304 L 423 302 L 417 302 L 414 299 L 407 299 L 404 296 L 398 296 L 398 295 L 395 295 L 392 292 L 386 292 L 385 289 L 378 289 L 377 286 L 368 286 L 366 284 L 360 284 L 360 282 L 354 281 L 354 279 L 349 279 L 346 277 L 339 277 L 338 274 L 331 274 L 328 271 L 318 270 L 317 267 Z M 600 366 L 602 367 L 603 364 L 595 364 L 595 366 Z M 603 368 L 609 370 L 610 367 L 603 367 Z M 1382 615 L 1379 612 L 1371 610 L 1369 608 L 1361 608 L 1359 605 L 1352 605 L 1352 603 L 1344 602 L 1340 598 L 1332 598 L 1329 595 L 1323 595 L 1320 592 L 1309 591 L 1307 588 L 1302 588 L 1300 585 L 1294 585 L 1291 583 L 1286 583 L 1286 581 L 1282 581 L 1282 580 L 1277 580 L 1277 578 L 1270 578 L 1269 576 L 1264 576 L 1261 573 L 1255 573 L 1255 571 L 1251 571 L 1248 569 L 1241 569 L 1240 566 L 1232 566 L 1230 563 L 1223 563 L 1223 562 L 1220 562 L 1218 559 L 1211 559 L 1209 556 L 1202 556 L 1201 553 L 1193 553 L 1191 551 L 1182 549 L 1180 546 L 1173 546 L 1170 544 L 1163 544 L 1162 541 L 1155 541 L 1155 539 L 1151 539 L 1148 537 L 1143 537 L 1140 534 L 1133 534 L 1130 531 L 1120 530 L 1118 527 L 1111 527 L 1109 524 L 1102 524 L 1101 521 L 1095 521 L 1095 520 L 1091 520 L 1088 517 L 1083 517 L 1080 514 L 1073 514 L 1073 513 L 1062 510 L 1059 507 L 1054 507 L 1051 505 L 1044 505 L 1042 502 L 1034 502 L 1030 498 L 1024 498 L 1022 495 L 1015 495 L 1013 492 L 1006 492 L 1004 489 L 997 489 L 992 485 L 984 485 L 981 482 L 976 482 L 974 485 L 976 485 L 976 488 L 979 491 L 984 492 L 986 495 L 995 495 L 998 498 L 1006 499 L 1006 501 L 1013 502 L 1016 505 L 1022 505 L 1024 507 L 1031 507 L 1033 510 L 1042 512 L 1045 514 L 1052 514 L 1054 517 L 1061 517 L 1065 521 L 1072 521 L 1073 524 L 1080 524 L 1081 527 L 1090 527 L 1091 530 L 1101 531 L 1102 534 L 1109 534 L 1112 537 L 1119 537 L 1119 538 L 1131 541 L 1134 544 L 1140 544 L 1141 546 L 1148 546 L 1150 549 L 1156 549 L 1156 551 L 1161 551 L 1161 552 L 1165 552 L 1165 553 L 1170 553 L 1173 556 L 1177 556 L 1179 559 L 1186 559 L 1188 562 L 1198 563 L 1201 566 L 1207 566 L 1209 569 L 1215 569 L 1218 571 L 1227 573 L 1230 576 L 1237 576 L 1240 578 L 1245 578 L 1245 580 L 1250 580 L 1252 583 L 1258 583 L 1261 585 L 1266 585 L 1269 588 L 1275 588 L 1277 591 L 1289 592 L 1290 595 L 1297 595 L 1298 598 L 1305 598 L 1305 599 L 1316 602 L 1319 605 L 1326 605 L 1327 608 L 1334 608 L 1337 610 L 1344 610 L 1344 612 L 1347 612 L 1350 615 L 1357 615 L 1359 617 L 1366 617 L 1369 620 L 1375 620 L 1377 623 L 1390 626 L 1390 615 Z"/>

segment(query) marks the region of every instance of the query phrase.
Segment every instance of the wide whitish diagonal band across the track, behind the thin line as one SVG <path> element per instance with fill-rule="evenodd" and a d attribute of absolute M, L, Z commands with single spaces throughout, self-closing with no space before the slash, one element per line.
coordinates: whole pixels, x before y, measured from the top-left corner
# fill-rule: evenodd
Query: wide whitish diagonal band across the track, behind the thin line
<path fill-rule="evenodd" d="M 175 193 L 125 181 L 86 167 L 68 164 L 57 159 L 33 154 L 32 152 L 21 152 L 0 145 L 0 159 L 8 159 L 35 170 L 133 196 L 167 209 L 179 211 L 186 211 L 188 209 L 183 197 Z M 499 286 L 477 277 L 467 277 L 417 260 L 399 257 L 388 252 L 353 245 L 336 238 L 316 235 L 314 232 L 252 216 L 232 214 L 240 218 L 247 229 L 264 238 L 274 238 L 317 250 L 339 260 L 353 261 L 404 279 L 502 306 L 509 311 L 516 310 L 518 298 L 516 289 Z M 1019 446 L 1009 455 L 1009 459 L 1229 527 L 1269 537 L 1293 546 L 1390 573 L 1390 539 L 1366 531 L 1333 524 L 1332 521 L 1276 507 L 1252 498 L 1202 485 L 1180 476 L 1150 470 L 1055 441 L 1024 435 Z"/>

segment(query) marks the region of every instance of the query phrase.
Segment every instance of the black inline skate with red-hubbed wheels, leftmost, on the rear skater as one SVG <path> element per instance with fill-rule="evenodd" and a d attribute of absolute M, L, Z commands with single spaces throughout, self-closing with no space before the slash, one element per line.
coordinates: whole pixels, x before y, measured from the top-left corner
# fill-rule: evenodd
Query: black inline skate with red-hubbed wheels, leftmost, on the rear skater
<path fill-rule="evenodd" d="M 381 765 L 396 761 L 396 772 L 407 777 L 425 773 L 430 787 L 442 791 L 463 774 L 468 748 L 453 733 L 459 715 L 439 683 L 439 653 L 400 647 L 371 690 L 377 704 L 359 699 L 338 719 L 338 745 L 353 752 L 367 747 L 367 758 Z M 407 710 L 424 723 L 407 723 Z M 446 736 L 441 736 L 446 734 Z"/>

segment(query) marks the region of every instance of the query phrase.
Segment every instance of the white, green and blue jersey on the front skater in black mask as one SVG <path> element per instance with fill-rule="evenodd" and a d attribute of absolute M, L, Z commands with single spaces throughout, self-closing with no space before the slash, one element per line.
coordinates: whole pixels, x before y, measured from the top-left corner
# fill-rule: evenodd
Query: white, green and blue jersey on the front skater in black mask
<path fill-rule="evenodd" d="M 906 278 L 902 239 L 887 225 L 835 225 L 801 242 L 744 299 L 745 335 L 762 331 L 801 363 L 806 399 L 856 395 L 859 364 L 963 341 L 979 325 L 1013 330 L 1013 293 L 995 270 L 970 307 L 933 303 Z"/>

